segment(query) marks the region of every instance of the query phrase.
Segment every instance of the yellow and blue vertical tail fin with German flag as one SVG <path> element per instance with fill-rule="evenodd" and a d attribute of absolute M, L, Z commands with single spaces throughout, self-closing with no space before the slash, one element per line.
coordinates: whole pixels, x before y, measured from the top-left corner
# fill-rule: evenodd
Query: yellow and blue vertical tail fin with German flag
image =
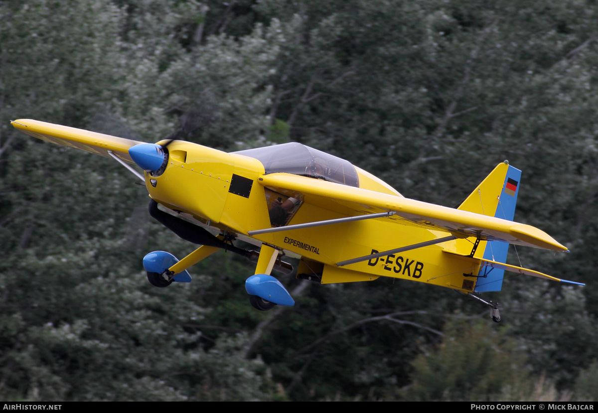
<path fill-rule="evenodd" d="M 498 164 L 458 209 L 512 221 L 515 215 L 520 180 L 521 171 L 509 166 L 508 161 Z M 463 255 L 468 255 L 471 252 L 472 244 L 468 240 L 455 240 L 454 242 L 454 247 L 450 247 L 450 250 Z M 474 258 L 506 263 L 508 250 L 508 243 L 480 241 Z M 478 279 L 474 291 L 501 290 L 505 270 L 502 268 L 489 270 L 485 271 L 485 278 Z"/>

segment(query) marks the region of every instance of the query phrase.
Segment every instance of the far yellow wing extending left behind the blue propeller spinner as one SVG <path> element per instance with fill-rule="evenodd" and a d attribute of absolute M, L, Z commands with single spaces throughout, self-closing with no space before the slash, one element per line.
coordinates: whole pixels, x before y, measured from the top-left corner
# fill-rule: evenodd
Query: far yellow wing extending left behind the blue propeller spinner
<path fill-rule="evenodd" d="M 81 151 L 105 157 L 110 157 L 108 151 L 112 151 L 117 157 L 129 163 L 134 163 L 129 156 L 129 148 L 144 143 L 31 119 L 19 119 L 11 121 L 11 124 L 20 131 L 46 142 L 81 149 Z"/>

